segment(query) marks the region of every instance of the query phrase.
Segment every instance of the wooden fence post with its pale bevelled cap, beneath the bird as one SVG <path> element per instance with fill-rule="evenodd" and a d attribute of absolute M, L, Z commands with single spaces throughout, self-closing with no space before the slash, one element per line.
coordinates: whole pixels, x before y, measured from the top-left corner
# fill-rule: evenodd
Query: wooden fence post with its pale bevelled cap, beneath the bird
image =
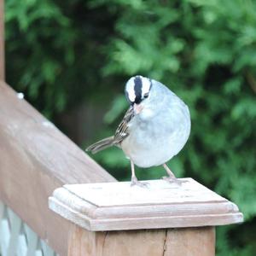
<path fill-rule="evenodd" d="M 242 221 L 236 205 L 192 178 L 64 185 L 49 208 L 71 221 L 69 256 L 215 255 L 215 226 Z"/>

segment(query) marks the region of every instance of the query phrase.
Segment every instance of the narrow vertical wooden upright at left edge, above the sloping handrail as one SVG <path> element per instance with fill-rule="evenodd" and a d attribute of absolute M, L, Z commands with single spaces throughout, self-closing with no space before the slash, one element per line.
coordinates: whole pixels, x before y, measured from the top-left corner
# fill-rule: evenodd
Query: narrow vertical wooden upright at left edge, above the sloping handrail
<path fill-rule="evenodd" d="M 4 16 L 3 0 L 0 0 L 0 80 L 4 79 Z"/>

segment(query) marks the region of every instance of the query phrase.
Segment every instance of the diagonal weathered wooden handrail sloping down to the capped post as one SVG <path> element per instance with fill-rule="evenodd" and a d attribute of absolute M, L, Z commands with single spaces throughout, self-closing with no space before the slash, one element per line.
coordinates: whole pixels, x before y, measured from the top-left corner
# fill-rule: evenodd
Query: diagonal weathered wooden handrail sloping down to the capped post
<path fill-rule="evenodd" d="M 49 195 L 65 183 L 114 178 L 2 81 L 0 120 L 0 201 L 67 255 L 70 223 L 49 210 Z"/>

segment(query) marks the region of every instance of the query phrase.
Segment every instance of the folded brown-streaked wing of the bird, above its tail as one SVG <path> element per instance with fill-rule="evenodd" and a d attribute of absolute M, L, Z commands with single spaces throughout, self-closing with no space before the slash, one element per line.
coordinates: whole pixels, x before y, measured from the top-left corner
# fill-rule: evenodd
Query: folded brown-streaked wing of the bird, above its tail
<path fill-rule="evenodd" d="M 114 143 L 117 143 L 117 144 L 121 143 L 125 139 L 125 137 L 129 135 L 128 124 L 133 117 L 134 117 L 134 111 L 133 111 L 133 107 L 131 106 L 125 113 L 124 118 L 122 119 L 117 130 L 115 131 Z"/>

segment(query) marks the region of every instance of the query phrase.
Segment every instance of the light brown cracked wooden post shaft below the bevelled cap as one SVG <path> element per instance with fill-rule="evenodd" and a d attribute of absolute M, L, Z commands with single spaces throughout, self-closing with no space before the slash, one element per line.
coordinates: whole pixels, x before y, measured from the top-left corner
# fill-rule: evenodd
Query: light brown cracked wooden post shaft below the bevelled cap
<path fill-rule="evenodd" d="M 213 227 L 90 232 L 70 230 L 69 256 L 213 256 Z"/>

